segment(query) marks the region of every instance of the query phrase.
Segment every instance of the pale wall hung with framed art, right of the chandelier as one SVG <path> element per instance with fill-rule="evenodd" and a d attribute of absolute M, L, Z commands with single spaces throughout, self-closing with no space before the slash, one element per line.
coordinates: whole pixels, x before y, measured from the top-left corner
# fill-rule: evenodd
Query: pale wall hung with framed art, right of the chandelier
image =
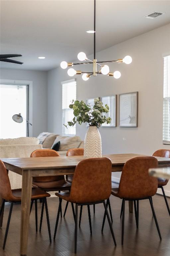
<path fill-rule="evenodd" d="M 91 77 L 85 82 L 81 76 L 76 76 L 78 100 L 134 91 L 139 92 L 138 127 L 101 127 L 100 133 L 104 154 L 141 153 L 151 155 L 157 149 L 170 148 L 170 146 L 162 144 L 162 54 L 166 53 L 170 54 L 170 24 L 96 54 L 98 61 L 114 60 L 126 55 L 132 57 L 133 61 L 130 65 L 109 64 L 111 72 L 115 70 L 121 72 L 120 79 L 116 80 L 113 77 L 101 75 Z M 93 56 L 88 57 L 93 59 Z M 89 71 L 87 66 L 81 66 L 82 71 Z M 61 134 L 62 131 L 61 81 L 68 79 L 67 70 L 56 68 L 48 72 L 48 131 L 57 134 Z M 117 111 L 119 124 L 119 97 Z M 87 127 L 84 124 L 77 125 L 76 133 L 82 139 L 84 139 L 86 131 Z M 120 174 L 115 173 L 114 176 L 119 178 Z M 170 187 L 168 190 L 170 191 Z"/>

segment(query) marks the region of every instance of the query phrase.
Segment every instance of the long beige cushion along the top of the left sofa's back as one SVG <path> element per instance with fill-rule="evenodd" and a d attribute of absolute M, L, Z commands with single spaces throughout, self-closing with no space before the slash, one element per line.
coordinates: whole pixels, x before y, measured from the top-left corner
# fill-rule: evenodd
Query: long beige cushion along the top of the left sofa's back
<path fill-rule="evenodd" d="M 20 137 L 16 139 L 1 139 L 0 145 L 38 145 L 39 139 L 35 137 Z"/>

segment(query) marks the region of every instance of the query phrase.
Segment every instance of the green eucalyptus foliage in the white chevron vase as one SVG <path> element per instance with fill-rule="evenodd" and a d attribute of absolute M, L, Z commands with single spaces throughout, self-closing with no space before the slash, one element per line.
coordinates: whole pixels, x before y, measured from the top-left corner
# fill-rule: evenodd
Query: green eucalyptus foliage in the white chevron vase
<path fill-rule="evenodd" d="M 77 122 L 81 125 L 87 122 L 89 126 L 99 126 L 99 124 L 111 123 L 111 118 L 106 117 L 103 113 L 109 112 L 109 106 L 106 104 L 105 107 L 99 98 L 94 99 L 94 106 L 91 108 L 90 104 L 86 105 L 84 101 L 72 101 L 69 108 L 73 109 L 74 118 L 68 122 L 67 125 L 74 126 Z M 67 125 L 64 126 L 67 128 Z"/>

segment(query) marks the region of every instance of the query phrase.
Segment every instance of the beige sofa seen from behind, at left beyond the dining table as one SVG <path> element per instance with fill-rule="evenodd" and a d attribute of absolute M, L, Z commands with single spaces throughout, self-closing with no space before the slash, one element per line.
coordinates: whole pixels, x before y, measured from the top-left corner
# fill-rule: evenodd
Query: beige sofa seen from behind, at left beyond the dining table
<path fill-rule="evenodd" d="M 42 149 L 39 140 L 34 137 L 0 140 L 0 158 L 30 157 L 36 149 Z M 22 176 L 9 170 L 11 188 L 21 188 Z"/>

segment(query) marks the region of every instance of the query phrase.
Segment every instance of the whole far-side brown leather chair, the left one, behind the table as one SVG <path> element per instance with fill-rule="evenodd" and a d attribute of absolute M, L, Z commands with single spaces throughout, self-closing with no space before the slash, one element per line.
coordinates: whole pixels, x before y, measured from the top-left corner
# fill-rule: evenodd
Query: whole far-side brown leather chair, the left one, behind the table
<path fill-rule="evenodd" d="M 31 153 L 31 157 L 59 157 L 60 155 L 53 149 L 37 149 Z M 33 187 L 41 188 L 44 191 L 63 191 L 70 190 L 71 183 L 66 181 L 64 175 L 56 176 L 43 176 L 43 177 L 33 177 Z M 72 205 L 74 208 L 74 206 Z M 40 220 L 40 231 L 42 226 L 44 201 L 42 201 L 42 214 Z M 62 209 L 60 209 L 60 214 L 62 217 Z M 74 213 L 73 213 L 74 215 Z"/>

